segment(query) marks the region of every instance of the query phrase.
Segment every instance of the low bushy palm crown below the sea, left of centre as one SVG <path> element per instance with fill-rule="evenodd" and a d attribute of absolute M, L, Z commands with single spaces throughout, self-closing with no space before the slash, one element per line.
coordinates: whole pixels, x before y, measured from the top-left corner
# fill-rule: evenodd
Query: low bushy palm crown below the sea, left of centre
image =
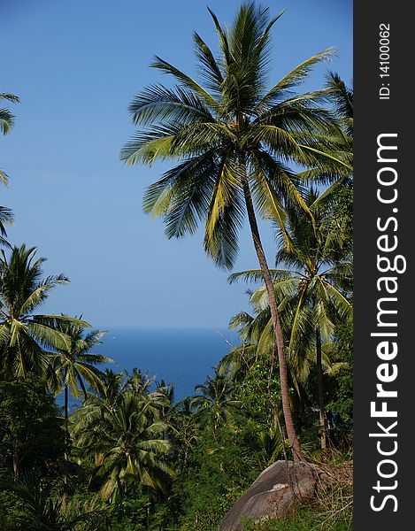
<path fill-rule="evenodd" d="M 87 400 L 73 421 L 75 444 L 96 464 L 91 485 L 104 499 L 123 496 L 132 483 L 153 492 L 165 489 L 173 473 L 166 460 L 171 443 L 163 437 L 168 426 L 150 396 L 125 389 L 111 409 Z"/>

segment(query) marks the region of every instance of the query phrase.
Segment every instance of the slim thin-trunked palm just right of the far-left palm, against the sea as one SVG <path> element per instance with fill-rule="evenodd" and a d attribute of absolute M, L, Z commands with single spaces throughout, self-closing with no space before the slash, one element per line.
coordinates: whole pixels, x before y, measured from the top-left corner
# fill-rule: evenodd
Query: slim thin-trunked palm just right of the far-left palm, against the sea
<path fill-rule="evenodd" d="M 81 317 L 75 318 L 80 320 Z M 65 414 L 65 455 L 64 455 L 64 497 L 65 507 L 68 490 L 68 461 L 69 461 L 69 393 L 75 398 L 81 396 L 83 392 L 86 400 L 87 389 L 85 383 L 94 389 L 99 389 L 103 385 L 103 373 L 97 369 L 97 365 L 113 363 L 111 358 L 106 358 L 102 354 L 93 354 L 89 350 L 101 344 L 101 338 L 105 332 L 91 330 L 87 332 L 73 322 L 58 322 L 58 330 L 69 337 L 69 348 L 59 349 L 51 354 L 51 383 L 55 391 L 64 389 L 64 414 Z"/>

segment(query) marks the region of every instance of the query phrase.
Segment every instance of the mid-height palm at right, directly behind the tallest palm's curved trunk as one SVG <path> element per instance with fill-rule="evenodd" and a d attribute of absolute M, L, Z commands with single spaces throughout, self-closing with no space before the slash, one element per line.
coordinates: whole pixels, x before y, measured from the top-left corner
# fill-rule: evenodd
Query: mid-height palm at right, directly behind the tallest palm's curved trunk
<path fill-rule="evenodd" d="M 313 220 L 296 209 L 288 209 L 286 230 L 278 238 L 277 265 L 271 270 L 274 289 L 284 299 L 284 321 L 289 323 L 288 355 L 290 366 L 301 371 L 310 353 L 315 360 L 319 389 L 319 424 L 321 447 L 327 447 L 325 420 L 322 341 L 329 342 L 336 322 L 351 317 L 347 295 L 352 289 L 350 240 L 333 224 L 332 215 L 319 210 L 319 196 L 310 190 L 305 201 Z M 245 278 L 261 280 L 259 270 L 234 273 L 230 281 Z M 265 287 L 252 296 L 257 306 L 266 304 Z"/>

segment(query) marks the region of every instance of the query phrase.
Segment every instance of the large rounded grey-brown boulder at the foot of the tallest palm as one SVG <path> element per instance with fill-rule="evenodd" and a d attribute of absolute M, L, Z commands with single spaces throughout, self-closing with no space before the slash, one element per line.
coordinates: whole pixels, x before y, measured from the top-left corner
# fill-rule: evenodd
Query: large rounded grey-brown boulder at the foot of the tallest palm
<path fill-rule="evenodd" d="M 311 463 L 277 461 L 260 473 L 243 496 L 227 512 L 219 531 L 241 531 L 244 519 L 282 519 L 314 496 L 318 486 L 327 487 L 331 476 Z"/>

